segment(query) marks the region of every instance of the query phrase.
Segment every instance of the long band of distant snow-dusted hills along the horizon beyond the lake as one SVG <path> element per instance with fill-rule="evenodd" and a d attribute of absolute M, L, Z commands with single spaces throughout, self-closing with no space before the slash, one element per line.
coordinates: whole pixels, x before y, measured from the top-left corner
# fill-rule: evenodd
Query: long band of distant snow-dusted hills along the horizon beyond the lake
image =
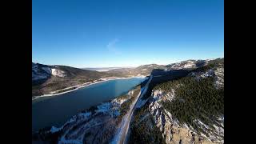
<path fill-rule="evenodd" d="M 48 66 L 32 62 L 32 96 L 49 94 L 54 90 L 93 82 L 107 77 L 133 77 L 150 75 L 154 69 L 179 70 L 205 66 L 211 60 L 187 60 L 169 65 L 149 64 L 138 67 L 74 68 Z"/>

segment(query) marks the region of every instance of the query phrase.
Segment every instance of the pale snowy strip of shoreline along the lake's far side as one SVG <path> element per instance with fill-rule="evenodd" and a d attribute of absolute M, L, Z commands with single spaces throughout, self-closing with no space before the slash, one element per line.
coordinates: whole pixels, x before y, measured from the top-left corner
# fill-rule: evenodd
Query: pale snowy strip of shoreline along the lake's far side
<path fill-rule="evenodd" d="M 38 99 L 38 98 L 53 97 L 53 96 L 57 96 L 57 95 L 60 95 L 60 94 L 66 94 L 66 93 L 69 93 L 71 91 L 79 90 L 79 89 L 81 89 L 83 87 L 91 86 L 91 85 L 94 85 L 94 84 L 97 84 L 97 83 L 100 83 L 100 82 L 107 82 L 107 81 L 116 80 L 116 79 L 130 79 L 130 78 L 146 78 L 146 76 L 140 75 L 140 76 L 132 76 L 132 77 L 106 77 L 106 78 L 99 78 L 98 80 L 94 80 L 94 82 L 86 82 L 86 83 L 82 83 L 80 85 L 66 87 L 65 89 L 62 89 L 62 90 L 66 90 L 66 91 L 64 91 L 62 93 L 58 93 L 58 91 L 61 91 L 61 90 L 55 90 L 55 91 L 51 91 L 50 94 L 43 94 L 43 95 L 39 95 L 39 96 L 34 96 L 34 97 L 32 97 L 32 102 L 35 99 Z M 72 89 L 72 88 L 74 88 L 74 89 Z M 72 90 L 67 90 L 67 89 L 72 89 Z M 56 93 L 56 94 L 54 94 L 54 93 Z"/>

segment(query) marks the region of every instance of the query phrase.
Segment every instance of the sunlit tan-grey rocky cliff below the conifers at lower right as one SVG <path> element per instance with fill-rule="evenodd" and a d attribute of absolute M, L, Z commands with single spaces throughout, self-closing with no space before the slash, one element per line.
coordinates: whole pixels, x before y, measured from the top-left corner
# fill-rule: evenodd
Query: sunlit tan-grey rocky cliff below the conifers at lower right
<path fill-rule="evenodd" d="M 150 105 L 148 109 L 150 114 L 154 118 L 156 126 L 162 133 L 166 143 L 222 143 L 224 142 L 224 128 L 215 126 L 213 132 L 208 131 L 209 126 L 202 123 L 200 120 L 198 124 L 205 128 L 206 134 L 198 134 L 192 127 L 186 124 L 181 124 L 176 118 L 174 118 L 170 111 L 166 110 L 161 102 L 172 101 L 174 99 L 174 92 L 165 94 L 161 90 L 154 90 L 152 92 L 152 98 L 150 99 Z M 224 127 L 224 118 L 219 118 Z"/>

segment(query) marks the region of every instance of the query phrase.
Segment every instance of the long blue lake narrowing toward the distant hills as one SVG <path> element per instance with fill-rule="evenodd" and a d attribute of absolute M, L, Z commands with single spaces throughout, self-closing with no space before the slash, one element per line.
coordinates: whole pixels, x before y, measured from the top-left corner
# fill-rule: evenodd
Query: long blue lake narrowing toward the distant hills
<path fill-rule="evenodd" d="M 73 115 L 90 108 L 90 106 L 126 94 L 145 79 L 115 79 L 58 96 L 38 98 L 32 102 L 32 131 L 46 126 L 61 126 Z"/>

